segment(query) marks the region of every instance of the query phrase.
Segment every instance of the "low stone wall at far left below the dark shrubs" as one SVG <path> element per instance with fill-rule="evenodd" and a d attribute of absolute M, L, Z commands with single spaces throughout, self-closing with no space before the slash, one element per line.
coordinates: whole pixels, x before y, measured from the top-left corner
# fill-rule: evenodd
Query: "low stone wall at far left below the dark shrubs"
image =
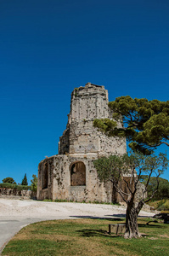
<path fill-rule="evenodd" d="M 36 199 L 37 193 L 31 190 L 17 190 L 0 188 L 0 198 L 15 198 L 15 199 Z"/>

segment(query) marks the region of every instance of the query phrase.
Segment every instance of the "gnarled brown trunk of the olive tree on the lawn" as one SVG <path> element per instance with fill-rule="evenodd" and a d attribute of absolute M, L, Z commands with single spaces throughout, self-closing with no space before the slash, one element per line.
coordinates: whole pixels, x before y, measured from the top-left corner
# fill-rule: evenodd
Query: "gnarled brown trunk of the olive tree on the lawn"
<path fill-rule="evenodd" d="M 127 201 L 127 212 L 126 212 L 126 232 L 125 238 L 137 238 L 141 237 L 138 231 L 138 213 L 135 207 L 135 203 Z"/>

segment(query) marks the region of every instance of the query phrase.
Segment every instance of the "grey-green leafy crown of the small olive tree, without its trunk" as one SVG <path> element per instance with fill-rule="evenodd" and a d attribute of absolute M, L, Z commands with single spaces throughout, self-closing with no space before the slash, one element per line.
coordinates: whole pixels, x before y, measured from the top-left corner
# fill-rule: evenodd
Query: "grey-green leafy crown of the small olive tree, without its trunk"
<path fill-rule="evenodd" d="M 134 197 L 137 189 L 138 182 L 142 181 L 144 178 L 144 194 L 147 192 L 149 186 L 149 198 L 151 198 L 159 187 L 159 176 L 163 173 L 169 161 L 166 159 L 166 154 L 160 153 L 158 156 L 155 154 L 152 155 L 144 155 L 142 153 L 132 153 L 121 154 L 121 155 L 110 155 L 107 157 L 101 157 L 98 160 L 93 161 L 93 165 L 98 172 L 98 176 L 101 182 L 110 181 L 114 184 L 115 190 L 121 195 L 122 199 L 127 202 L 125 197 L 123 196 L 125 193 L 121 190 L 118 185 L 118 181 L 122 176 L 125 176 L 125 173 L 130 173 L 130 177 L 132 178 L 132 183 L 134 183 L 134 189 L 130 190 L 128 196 Z M 161 168 L 161 169 L 160 169 Z M 136 170 L 138 171 L 138 176 L 136 177 Z M 143 176 L 143 173 L 147 175 Z M 154 178 L 150 179 L 151 175 L 155 175 L 155 183 L 153 183 Z M 145 178 L 147 177 L 147 179 Z M 150 183 L 151 181 L 151 183 Z M 127 183 L 127 182 L 126 182 Z M 150 183 L 150 184 L 149 184 Z M 127 187 L 129 187 L 129 183 L 127 183 Z M 143 201 L 143 198 L 141 199 Z M 149 199 L 148 199 L 149 201 Z"/>

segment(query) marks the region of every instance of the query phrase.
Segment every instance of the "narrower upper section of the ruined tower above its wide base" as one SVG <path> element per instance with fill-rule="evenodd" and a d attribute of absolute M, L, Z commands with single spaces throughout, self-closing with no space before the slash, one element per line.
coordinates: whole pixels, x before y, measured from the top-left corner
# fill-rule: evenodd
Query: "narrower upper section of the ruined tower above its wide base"
<path fill-rule="evenodd" d="M 112 119 L 104 86 L 87 83 L 73 90 L 68 124 L 59 140 L 59 154 L 126 153 L 124 139 L 106 137 L 93 127 L 94 119 L 104 118 Z"/>

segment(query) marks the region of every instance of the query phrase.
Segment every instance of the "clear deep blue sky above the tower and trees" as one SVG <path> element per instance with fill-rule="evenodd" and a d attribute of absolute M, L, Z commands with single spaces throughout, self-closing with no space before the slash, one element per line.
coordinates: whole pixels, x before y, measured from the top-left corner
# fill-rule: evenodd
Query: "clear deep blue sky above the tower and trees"
<path fill-rule="evenodd" d="M 58 153 L 70 93 L 87 82 L 110 101 L 168 100 L 168 0 L 0 0 L 0 182 L 30 183 Z"/>

